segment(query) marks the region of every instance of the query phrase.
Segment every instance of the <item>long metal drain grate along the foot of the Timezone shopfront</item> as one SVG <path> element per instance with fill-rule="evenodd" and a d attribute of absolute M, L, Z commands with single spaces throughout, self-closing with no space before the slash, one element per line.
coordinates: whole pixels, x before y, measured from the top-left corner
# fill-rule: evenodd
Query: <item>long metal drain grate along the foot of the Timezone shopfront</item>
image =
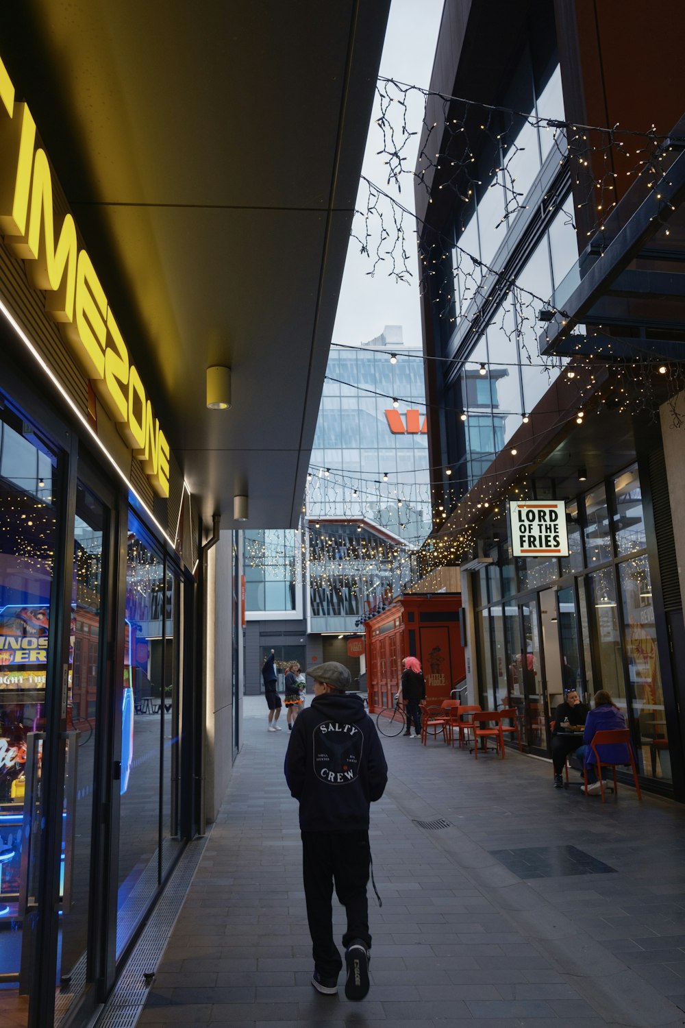
<path fill-rule="evenodd" d="M 194 839 L 184 849 L 168 885 L 154 908 L 136 947 L 97 1021 L 97 1028 L 131 1028 L 138 1021 L 152 979 L 166 948 L 183 902 L 202 856 L 206 837 Z"/>

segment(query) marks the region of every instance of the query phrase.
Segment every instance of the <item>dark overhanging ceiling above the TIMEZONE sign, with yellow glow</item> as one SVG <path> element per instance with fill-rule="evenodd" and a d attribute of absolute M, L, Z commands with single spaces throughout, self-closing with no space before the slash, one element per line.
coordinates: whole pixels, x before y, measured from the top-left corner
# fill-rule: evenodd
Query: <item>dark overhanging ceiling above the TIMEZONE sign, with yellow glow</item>
<path fill-rule="evenodd" d="M 389 0 L 23 0 L 0 56 L 202 515 L 296 524 Z M 232 368 L 232 408 L 205 368 Z M 241 525 L 245 526 L 245 525 Z"/>

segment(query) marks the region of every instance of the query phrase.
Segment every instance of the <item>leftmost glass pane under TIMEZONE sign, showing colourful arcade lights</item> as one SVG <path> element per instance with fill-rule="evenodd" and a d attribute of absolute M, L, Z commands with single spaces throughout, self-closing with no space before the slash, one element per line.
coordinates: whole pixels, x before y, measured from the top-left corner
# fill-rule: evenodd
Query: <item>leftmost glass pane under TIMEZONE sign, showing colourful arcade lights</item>
<path fill-rule="evenodd" d="M 0 408 L 0 972 L 16 976 L 33 945 L 38 916 L 41 850 L 39 814 L 45 721 L 45 673 L 56 540 L 56 460 L 33 426 Z M 87 713 L 87 704 L 86 704 Z M 25 797 L 31 797 L 25 825 Z M 29 867 L 26 867 L 28 855 Z M 24 896 L 30 916 L 20 911 Z M 69 923 L 71 951 L 73 922 Z M 25 949 L 23 957 L 23 949 Z M 31 959 L 29 958 L 29 965 Z M 26 974 L 26 971 L 24 971 Z M 14 983 L 17 978 L 14 979 Z M 24 982 L 24 991 L 30 991 Z M 26 999 L 8 986 L 2 1014 L 26 1023 Z M 6 1023 L 6 1022 L 3 1022 Z"/>

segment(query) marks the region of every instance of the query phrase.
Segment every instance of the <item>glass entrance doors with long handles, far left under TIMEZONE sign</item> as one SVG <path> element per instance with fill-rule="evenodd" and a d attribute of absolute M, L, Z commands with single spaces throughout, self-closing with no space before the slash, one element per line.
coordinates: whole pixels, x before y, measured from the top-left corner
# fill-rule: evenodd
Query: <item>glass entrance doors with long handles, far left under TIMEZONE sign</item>
<path fill-rule="evenodd" d="M 113 498 L 0 404 L 0 1024 L 94 1008 Z M 102 490 L 101 490 L 102 491 Z M 52 1004 L 54 1004 L 52 1016 Z"/>

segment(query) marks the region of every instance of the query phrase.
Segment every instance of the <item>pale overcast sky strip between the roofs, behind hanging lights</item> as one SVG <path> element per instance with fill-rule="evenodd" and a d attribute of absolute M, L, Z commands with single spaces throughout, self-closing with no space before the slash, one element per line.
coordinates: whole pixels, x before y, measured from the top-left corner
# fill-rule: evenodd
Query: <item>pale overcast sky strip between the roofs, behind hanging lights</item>
<path fill-rule="evenodd" d="M 443 0 L 392 0 L 381 59 L 381 75 L 428 87 L 442 12 Z M 382 158 L 377 156 L 382 145 L 380 130 L 375 124 L 379 113 L 376 105 L 367 140 L 363 174 L 381 188 L 386 188 L 387 168 Z M 412 128 L 420 133 L 423 108 L 418 102 L 418 96 L 414 98 L 411 117 Z M 412 170 L 417 150 L 418 136 L 411 159 L 407 161 L 407 167 Z M 392 190 L 388 188 L 388 191 Z M 361 204 L 361 197 L 366 197 L 366 186 L 359 195 L 357 208 Z M 414 210 L 414 188 L 409 177 L 405 179 L 398 199 L 405 207 Z M 371 278 L 368 272 L 372 262 L 359 254 L 359 244 L 350 240 L 333 342 L 366 342 L 380 335 L 385 325 L 402 325 L 405 344 L 421 344 L 416 246 L 412 246 L 415 228 L 415 224 L 406 218 L 410 269 L 414 273 L 410 285 L 397 284 L 390 279 L 385 262 L 377 266 L 375 276 Z M 358 218 L 354 219 L 352 230 L 355 229 L 361 230 Z"/>

